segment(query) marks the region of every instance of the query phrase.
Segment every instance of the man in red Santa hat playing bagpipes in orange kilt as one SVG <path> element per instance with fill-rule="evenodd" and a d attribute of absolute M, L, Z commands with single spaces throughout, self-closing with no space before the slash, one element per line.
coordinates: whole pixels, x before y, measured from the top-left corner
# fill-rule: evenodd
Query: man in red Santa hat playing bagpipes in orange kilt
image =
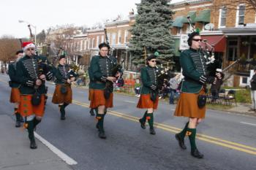
<path fill-rule="evenodd" d="M 17 78 L 20 82 L 20 114 L 25 117 L 30 148 L 37 149 L 34 128 L 41 122 L 45 107 L 45 80 L 53 77 L 47 58 L 35 55 L 36 46 L 23 42 L 25 56 L 17 63 Z"/>

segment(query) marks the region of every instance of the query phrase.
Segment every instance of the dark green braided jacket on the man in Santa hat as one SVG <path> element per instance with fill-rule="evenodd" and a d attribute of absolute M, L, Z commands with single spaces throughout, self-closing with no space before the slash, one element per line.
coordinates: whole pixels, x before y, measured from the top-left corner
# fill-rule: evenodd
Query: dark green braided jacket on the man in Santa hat
<path fill-rule="evenodd" d="M 35 93 L 34 85 L 38 78 L 39 72 L 45 74 L 47 80 L 52 79 L 52 67 L 50 67 L 48 64 L 40 64 L 40 61 L 43 63 L 48 63 L 47 58 L 42 55 L 34 55 L 32 58 L 26 55 L 18 61 L 16 69 L 18 70 L 18 82 L 21 84 L 20 94 L 26 95 Z M 45 82 L 42 82 L 42 85 L 39 86 L 37 92 L 40 94 L 46 93 Z"/>

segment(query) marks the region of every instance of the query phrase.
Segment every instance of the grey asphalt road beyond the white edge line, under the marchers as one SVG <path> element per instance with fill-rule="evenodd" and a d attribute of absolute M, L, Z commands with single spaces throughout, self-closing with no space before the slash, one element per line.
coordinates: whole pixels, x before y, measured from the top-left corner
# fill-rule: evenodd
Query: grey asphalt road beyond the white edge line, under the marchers
<path fill-rule="evenodd" d="M 0 75 L 0 114 L 12 115 L 7 75 Z M 66 109 L 67 120 L 59 120 L 59 109 L 49 95 L 45 117 L 37 134 L 73 158 L 72 169 L 256 169 L 256 117 L 207 110 L 206 120 L 197 128 L 197 147 L 205 155 L 192 158 L 188 149 L 178 147 L 174 134 L 186 118 L 173 117 L 174 105 L 159 104 L 155 112 L 157 135 L 140 128 L 138 98 L 114 94 L 114 107 L 105 117 L 107 139 L 99 139 L 95 118 L 89 115 L 88 90 L 73 89 L 73 104 Z M 48 83 L 48 93 L 54 85 Z M 4 112 L 3 112 L 4 111 Z M 26 134 L 24 134 L 26 135 Z"/>

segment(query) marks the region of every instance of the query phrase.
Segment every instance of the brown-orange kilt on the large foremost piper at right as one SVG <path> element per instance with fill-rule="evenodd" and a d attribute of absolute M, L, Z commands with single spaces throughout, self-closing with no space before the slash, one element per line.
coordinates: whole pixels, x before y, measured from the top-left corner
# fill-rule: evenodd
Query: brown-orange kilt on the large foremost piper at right
<path fill-rule="evenodd" d="M 199 108 L 197 105 L 197 98 L 200 94 L 206 94 L 205 90 L 200 90 L 199 93 L 181 93 L 174 115 L 204 118 L 206 116 L 206 107 Z"/>

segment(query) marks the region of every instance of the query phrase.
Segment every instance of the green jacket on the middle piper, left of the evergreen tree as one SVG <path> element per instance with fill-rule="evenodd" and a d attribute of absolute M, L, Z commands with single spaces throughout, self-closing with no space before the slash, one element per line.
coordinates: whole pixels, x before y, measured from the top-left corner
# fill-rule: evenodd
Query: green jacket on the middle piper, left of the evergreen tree
<path fill-rule="evenodd" d="M 104 90 L 105 87 L 106 87 L 106 82 L 108 80 L 107 80 L 107 75 L 102 74 L 101 68 L 99 66 L 99 59 L 100 58 L 102 58 L 102 57 L 99 56 L 99 55 L 96 55 L 96 56 L 91 58 L 91 63 L 90 63 L 91 78 L 90 78 L 90 81 L 93 80 L 91 82 L 91 88 L 92 89 Z M 113 58 L 112 56 L 110 56 L 110 58 L 111 58 L 111 61 L 114 61 L 114 63 L 116 63 L 116 58 Z M 110 68 L 110 69 L 113 69 L 113 67 Z M 113 91 L 113 87 L 110 90 Z"/>

